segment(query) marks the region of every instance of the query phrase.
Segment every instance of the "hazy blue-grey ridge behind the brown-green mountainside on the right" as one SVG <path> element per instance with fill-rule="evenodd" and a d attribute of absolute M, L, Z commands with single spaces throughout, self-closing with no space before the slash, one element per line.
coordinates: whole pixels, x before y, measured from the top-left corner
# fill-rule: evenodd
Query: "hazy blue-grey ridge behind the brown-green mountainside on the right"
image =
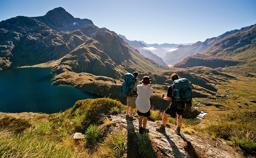
<path fill-rule="evenodd" d="M 235 33 L 250 30 L 253 26 L 254 25 L 251 25 L 248 27 L 243 27 L 240 30 L 228 31 L 228 32 L 225 32 L 225 33 L 219 35 L 218 37 L 206 39 L 204 42 L 198 41 L 191 46 L 178 46 L 178 47 L 176 47 L 177 50 L 166 53 L 166 56 L 163 59 L 164 59 L 165 63 L 167 63 L 167 64 L 172 64 L 172 65 L 176 64 L 179 61 L 183 60 L 187 56 L 190 56 L 193 54 L 204 53 L 207 50 L 207 48 L 210 49 L 211 46 L 217 44 L 220 40 L 222 40 L 223 38 L 225 38 L 228 35 L 232 35 Z M 235 44 L 235 41 L 233 41 L 233 44 Z M 216 49 L 216 51 L 218 52 L 217 49 Z"/>

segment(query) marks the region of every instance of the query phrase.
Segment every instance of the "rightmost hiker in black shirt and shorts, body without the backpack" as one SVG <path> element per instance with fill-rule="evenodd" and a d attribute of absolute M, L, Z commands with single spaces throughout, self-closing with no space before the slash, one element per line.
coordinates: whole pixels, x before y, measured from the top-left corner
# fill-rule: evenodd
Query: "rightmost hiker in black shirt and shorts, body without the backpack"
<path fill-rule="evenodd" d="M 173 82 L 173 85 L 174 85 L 174 81 L 175 80 L 178 80 L 179 79 L 179 76 L 177 73 L 173 73 L 171 75 L 171 80 Z M 164 94 L 161 95 L 161 98 L 163 98 L 164 100 L 170 100 L 171 99 L 171 96 L 173 96 L 173 93 L 175 89 L 173 89 L 173 85 L 169 86 L 168 89 L 167 89 L 167 96 L 164 96 Z M 163 113 L 163 119 L 162 119 L 162 124 L 159 128 L 156 128 L 156 131 L 159 131 L 159 132 L 163 132 L 165 133 L 165 125 L 167 123 L 167 118 L 170 114 L 174 113 L 174 112 L 177 112 L 177 126 L 175 128 L 175 132 L 180 135 L 180 127 L 182 125 L 182 114 L 184 112 L 184 109 L 178 109 L 177 106 L 174 105 L 173 103 L 173 98 L 171 99 L 172 102 L 170 104 L 170 106 L 164 111 Z"/>

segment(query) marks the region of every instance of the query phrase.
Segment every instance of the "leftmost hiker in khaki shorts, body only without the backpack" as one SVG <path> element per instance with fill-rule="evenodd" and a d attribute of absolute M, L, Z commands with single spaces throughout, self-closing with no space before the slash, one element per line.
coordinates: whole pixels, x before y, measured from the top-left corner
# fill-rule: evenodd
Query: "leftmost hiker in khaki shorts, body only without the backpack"
<path fill-rule="evenodd" d="M 131 96 L 127 96 L 127 98 L 126 98 L 126 102 L 127 102 L 126 119 L 128 119 L 128 120 L 136 120 L 136 118 L 133 117 L 133 109 L 136 108 L 135 101 L 138 96 L 137 95 L 137 85 L 140 84 L 140 81 L 138 79 L 138 72 L 135 71 L 133 73 L 133 76 L 135 78 L 135 83 L 133 86 L 133 94 Z M 129 110 L 130 110 L 130 113 L 129 113 Z"/>

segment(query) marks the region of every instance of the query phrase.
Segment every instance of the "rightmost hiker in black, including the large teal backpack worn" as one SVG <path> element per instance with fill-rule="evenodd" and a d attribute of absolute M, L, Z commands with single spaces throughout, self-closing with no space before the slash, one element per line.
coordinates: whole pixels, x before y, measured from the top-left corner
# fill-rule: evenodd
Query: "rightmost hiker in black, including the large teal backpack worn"
<path fill-rule="evenodd" d="M 192 106 L 192 92 L 189 85 L 189 80 L 182 78 L 179 79 L 177 73 L 171 75 L 172 85 L 168 86 L 167 96 L 161 95 L 164 100 L 171 100 L 170 106 L 164 111 L 162 124 L 156 131 L 165 133 L 165 125 L 167 123 L 168 116 L 176 112 L 177 126 L 175 132 L 180 135 L 180 128 L 182 126 L 182 115 L 184 110 L 191 108 Z"/>

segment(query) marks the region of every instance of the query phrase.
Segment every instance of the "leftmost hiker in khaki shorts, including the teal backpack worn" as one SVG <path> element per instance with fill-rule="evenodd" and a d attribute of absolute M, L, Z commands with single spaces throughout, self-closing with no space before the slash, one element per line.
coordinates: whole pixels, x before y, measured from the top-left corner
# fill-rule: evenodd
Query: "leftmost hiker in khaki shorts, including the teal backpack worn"
<path fill-rule="evenodd" d="M 137 85 L 140 84 L 140 81 L 138 79 L 138 72 L 133 72 L 133 74 L 126 73 L 124 78 L 125 80 L 123 81 L 122 92 L 124 95 L 126 95 L 126 119 L 136 120 L 136 118 L 133 117 L 133 109 L 136 108 L 135 101 L 138 96 Z"/>

